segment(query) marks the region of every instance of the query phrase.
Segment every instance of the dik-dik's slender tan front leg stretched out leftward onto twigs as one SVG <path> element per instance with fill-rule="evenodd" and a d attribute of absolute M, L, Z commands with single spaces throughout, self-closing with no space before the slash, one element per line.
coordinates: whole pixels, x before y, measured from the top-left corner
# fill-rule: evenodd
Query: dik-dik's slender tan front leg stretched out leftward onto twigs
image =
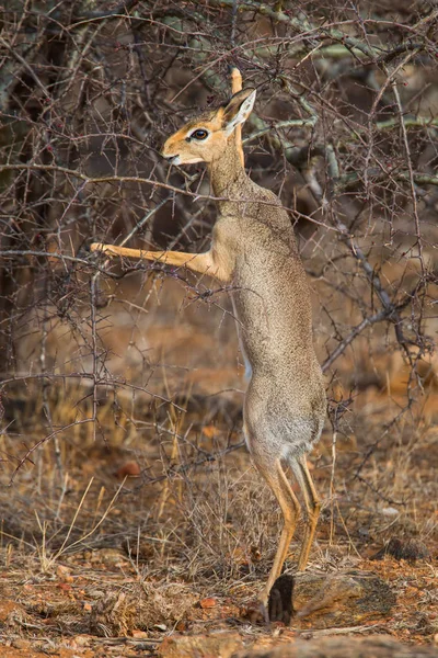
<path fill-rule="evenodd" d="M 211 248 L 205 253 L 186 253 L 184 251 L 143 251 L 142 249 L 128 249 L 116 245 L 102 245 L 93 242 L 91 251 L 100 251 L 105 256 L 125 256 L 127 258 L 140 258 L 143 260 L 158 261 L 176 268 L 187 268 L 197 274 L 208 274 L 218 281 L 228 283 L 231 280 L 231 263 L 227 254 L 220 249 Z"/>

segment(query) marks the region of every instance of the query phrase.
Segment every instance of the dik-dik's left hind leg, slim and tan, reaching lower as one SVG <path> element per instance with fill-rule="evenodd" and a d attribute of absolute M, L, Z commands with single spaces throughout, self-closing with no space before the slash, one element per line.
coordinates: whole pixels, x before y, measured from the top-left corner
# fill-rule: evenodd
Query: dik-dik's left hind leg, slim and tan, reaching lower
<path fill-rule="evenodd" d="M 284 517 L 284 526 L 278 542 L 277 553 L 261 597 L 262 603 L 266 606 L 270 589 L 281 574 L 283 565 L 285 564 L 287 552 L 300 515 L 300 506 L 287 480 L 279 460 L 275 460 L 274 463 L 268 465 L 265 460 L 257 460 L 255 454 L 253 454 L 253 460 L 278 500 Z"/>

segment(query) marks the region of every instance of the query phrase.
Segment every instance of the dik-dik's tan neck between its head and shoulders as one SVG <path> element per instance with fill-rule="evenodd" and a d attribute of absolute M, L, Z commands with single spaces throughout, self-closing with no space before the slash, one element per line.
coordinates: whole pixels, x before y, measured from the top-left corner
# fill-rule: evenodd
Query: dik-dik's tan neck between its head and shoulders
<path fill-rule="evenodd" d="M 234 135 L 228 139 L 223 152 L 209 162 L 208 171 L 215 196 L 228 196 L 234 200 L 246 196 L 251 182 L 242 166 Z M 228 203 L 218 202 L 219 209 L 223 211 Z"/>

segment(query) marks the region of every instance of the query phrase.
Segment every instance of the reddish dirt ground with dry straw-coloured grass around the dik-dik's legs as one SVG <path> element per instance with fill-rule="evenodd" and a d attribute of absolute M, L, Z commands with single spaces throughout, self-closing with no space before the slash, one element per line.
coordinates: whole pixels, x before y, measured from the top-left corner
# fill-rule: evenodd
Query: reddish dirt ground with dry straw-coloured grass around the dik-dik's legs
<path fill-rule="evenodd" d="M 435 363 L 407 405 L 402 360 L 384 350 L 365 359 L 357 348 L 328 374 L 332 408 L 344 400 L 345 409 L 336 431 L 327 420 L 310 456 L 323 509 L 309 574 L 330 582 L 371 572 L 394 605 L 353 622 L 333 616 L 334 598 L 289 626 L 267 625 L 251 611 L 280 517 L 242 445 L 233 320 L 222 307 L 187 300 L 172 281 L 160 285 L 166 302 L 159 311 L 134 321 L 124 303 L 137 303 L 131 290 L 104 309 L 106 367 L 130 388 L 93 392 L 78 377 L 54 377 L 46 388 L 18 382 L 3 400 L 0 655 L 231 656 L 331 634 L 436 646 Z M 66 327 L 50 327 L 49 337 L 49 353 L 73 362 L 79 352 Z M 96 399 L 97 422 L 89 422 Z M 288 572 L 300 536 L 301 526 Z M 388 542 L 393 555 L 383 554 Z M 175 649 L 175 637 L 198 645 Z M 218 638 L 220 646 L 208 644 Z"/>

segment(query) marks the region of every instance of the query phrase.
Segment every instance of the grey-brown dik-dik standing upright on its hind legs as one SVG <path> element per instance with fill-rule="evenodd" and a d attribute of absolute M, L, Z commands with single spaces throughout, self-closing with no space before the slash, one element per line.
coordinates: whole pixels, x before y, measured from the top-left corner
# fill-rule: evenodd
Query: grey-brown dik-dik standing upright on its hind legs
<path fill-rule="evenodd" d="M 277 554 L 261 595 L 266 605 L 300 513 L 283 464 L 297 478 L 307 511 L 298 569 L 304 569 L 309 559 L 320 501 L 306 455 L 321 435 L 325 394 L 312 342 L 310 290 L 289 216 L 273 192 L 246 175 L 242 163 L 240 126 L 254 101 L 253 89 L 234 93 L 226 104 L 186 123 L 163 147 L 162 155 L 173 164 L 207 163 L 219 198 L 207 252 L 142 251 L 100 243 L 92 249 L 187 268 L 232 286 L 242 351 L 251 366 L 244 399 L 246 443 L 284 515 Z"/>

